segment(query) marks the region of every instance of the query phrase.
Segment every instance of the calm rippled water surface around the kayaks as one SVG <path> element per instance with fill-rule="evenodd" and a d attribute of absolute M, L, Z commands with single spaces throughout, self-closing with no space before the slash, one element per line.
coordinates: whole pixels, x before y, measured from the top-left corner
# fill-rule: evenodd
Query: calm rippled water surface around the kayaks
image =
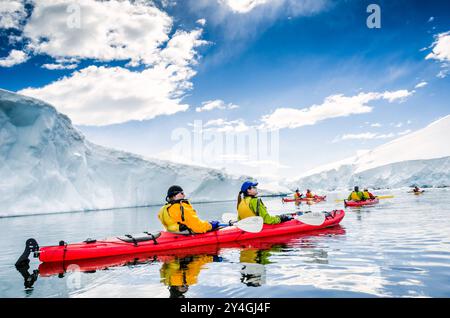
<path fill-rule="evenodd" d="M 39 275 L 25 289 L 14 262 L 24 242 L 41 246 L 160 228 L 158 207 L 0 218 L 0 297 L 449 297 L 450 191 L 379 192 L 395 198 L 348 208 L 333 230 L 264 244 L 158 257 L 90 273 Z M 328 201 L 302 210 L 343 208 Z M 265 199 L 272 214 L 294 211 Z M 195 205 L 205 219 L 234 211 L 234 202 Z M 31 262 L 30 272 L 39 265 Z M 61 275 L 60 275 L 61 276 Z"/>

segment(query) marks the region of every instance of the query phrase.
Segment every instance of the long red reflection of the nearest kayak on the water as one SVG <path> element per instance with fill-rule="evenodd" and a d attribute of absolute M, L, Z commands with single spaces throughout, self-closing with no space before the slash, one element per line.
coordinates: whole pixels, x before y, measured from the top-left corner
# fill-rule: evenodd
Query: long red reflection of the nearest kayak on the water
<path fill-rule="evenodd" d="M 39 265 L 39 275 L 48 277 L 60 275 L 71 271 L 95 272 L 97 270 L 105 270 L 110 267 L 128 266 L 138 264 L 148 264 L 153 262 L 168 262 L 173 259 L 180 259 L 194 255 L 219 255 L 222 249 L 239 248 L 239 249 L 258 249 L 269 250 L 273 246 L 295 244 L 301 240 L 301 247 L 313 247 L 314 243 L 308 243 L 308 237 L 313 236 L 334 236 L 344 235 L 345 230 L 340 226 L 310 231 L 307 233 L 286 234 L 277 237 L 263 237 L 248 241 L 229 242 L 224 244 L 197 246 L 188 250 L 173 250 L 160 253 L 141 253 L 116 255 L 103 258 L 83 259 L 77 261 L 66 262 L 50 262 L 41 263 Z"/>

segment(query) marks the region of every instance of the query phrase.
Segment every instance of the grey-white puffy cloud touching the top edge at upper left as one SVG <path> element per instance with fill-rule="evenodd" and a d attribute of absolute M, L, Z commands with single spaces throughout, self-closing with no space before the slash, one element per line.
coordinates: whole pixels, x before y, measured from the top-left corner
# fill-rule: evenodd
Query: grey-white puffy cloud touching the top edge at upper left
<path fill-rule="evenodd" d="M 23 37 L 36 54 L 98 61 L 158 61 L 172 19 L 143 1 L 39 0 Z"/>

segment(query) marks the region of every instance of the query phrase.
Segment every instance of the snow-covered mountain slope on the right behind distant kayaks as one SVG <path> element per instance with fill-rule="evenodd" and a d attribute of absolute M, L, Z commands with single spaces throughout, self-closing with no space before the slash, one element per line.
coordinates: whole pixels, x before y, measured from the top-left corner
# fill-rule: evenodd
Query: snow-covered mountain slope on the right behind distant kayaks
<path fill-rule="evenodd" d="M 317 167 L 290 182 L 321 190 L 450 186 L 450 115 L 363 154 Z"/>

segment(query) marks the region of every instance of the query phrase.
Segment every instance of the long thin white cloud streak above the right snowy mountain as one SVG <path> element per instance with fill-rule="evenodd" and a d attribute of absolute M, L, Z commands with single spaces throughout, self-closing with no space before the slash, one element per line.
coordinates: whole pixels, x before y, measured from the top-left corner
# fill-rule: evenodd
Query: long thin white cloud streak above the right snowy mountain
<path fill-rule="evenodd" d="M 373 107 L 368 103 L 371 101 L 384 99 L 390 103 L 401 102 L 413 92 L 407 90 L 384 93 L 369 92 L 350 97 L 342 94 L 332 95 L 325 98 L 322 104 L 312 105 L 308 108 L 278 108 L 272 114 L 261 118 L 262 126 L 269 129 L 297 128 L 314 125 L 325 119 L 370 113 Z"/>

